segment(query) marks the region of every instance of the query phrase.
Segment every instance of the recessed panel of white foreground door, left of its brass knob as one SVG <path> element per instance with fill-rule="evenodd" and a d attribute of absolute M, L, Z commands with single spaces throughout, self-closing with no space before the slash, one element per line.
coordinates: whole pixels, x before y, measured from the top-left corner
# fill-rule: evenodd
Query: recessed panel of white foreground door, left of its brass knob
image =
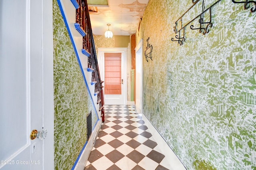
<path fill-rule="evenodd" d="M 10 3 L 8 0 L 2 0 L 0 4 L 0 168 L 6 165 L 3 169 L 20 167 L 20 162 L 17 162 L 20 160 L 17 160 L 18 157 L 15 159 L 19 154 L 26 155 L 22 156 L 21 160 L 30 160 L 30 83 L 27 74 L 29 56 L 26 46 L 27 27 L 24 22 L 27 18 L 26 8 L 26 1 L 24 3 L 16 0 Z M 7 15 L 13 15 L 12 20 Z M 18 29 L 11 26 L 13 23 L 19 26 Z M 22 164 L 19 169 L 22 168 L 30 169 L 30 164 Z"/>

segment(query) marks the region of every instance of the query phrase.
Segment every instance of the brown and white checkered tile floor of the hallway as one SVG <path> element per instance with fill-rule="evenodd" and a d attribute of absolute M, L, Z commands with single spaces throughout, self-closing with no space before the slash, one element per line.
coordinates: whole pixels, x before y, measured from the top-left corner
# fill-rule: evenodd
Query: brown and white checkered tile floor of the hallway
<path fill-rule="evenodd" d="M 170 164 L 135 106 L 105 105 L 105 123 L 84 170 L 168 170 Z"/>

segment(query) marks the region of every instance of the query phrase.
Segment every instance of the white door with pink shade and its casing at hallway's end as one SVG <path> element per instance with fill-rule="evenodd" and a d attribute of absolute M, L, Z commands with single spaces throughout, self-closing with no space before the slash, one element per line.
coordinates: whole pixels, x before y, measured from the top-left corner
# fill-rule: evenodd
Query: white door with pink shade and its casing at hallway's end
<path fill-rule="evenodd" d="M 104 104 L 127 105 L 127 48 L 98 48 Z"/>

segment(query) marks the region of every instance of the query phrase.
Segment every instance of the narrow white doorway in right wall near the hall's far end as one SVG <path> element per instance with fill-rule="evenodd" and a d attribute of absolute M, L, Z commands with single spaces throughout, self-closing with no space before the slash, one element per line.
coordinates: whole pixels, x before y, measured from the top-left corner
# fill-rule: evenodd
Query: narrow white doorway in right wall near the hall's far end
<path fill-rule="evenodd" d="M 143 72 L 142 72 L 142 42 L 143 39 L 140 40 L 138 45 L 135 48 L 135 64 L 136 64 L 136 110 L 138 113 L 142 113 L 142 105 L 143 105 Z"/>

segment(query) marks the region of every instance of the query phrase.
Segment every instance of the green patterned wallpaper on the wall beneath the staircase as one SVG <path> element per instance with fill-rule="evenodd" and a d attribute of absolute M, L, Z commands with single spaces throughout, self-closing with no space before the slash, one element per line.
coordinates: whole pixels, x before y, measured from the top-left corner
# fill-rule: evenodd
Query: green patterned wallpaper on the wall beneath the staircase
<path fill-rule="evenodd" d="M 97 117 L 56 0 L 53 27 L 54 169 L 70 170 L 87 140 L 86 115 L 92 111 L 92 126 Z"/>

